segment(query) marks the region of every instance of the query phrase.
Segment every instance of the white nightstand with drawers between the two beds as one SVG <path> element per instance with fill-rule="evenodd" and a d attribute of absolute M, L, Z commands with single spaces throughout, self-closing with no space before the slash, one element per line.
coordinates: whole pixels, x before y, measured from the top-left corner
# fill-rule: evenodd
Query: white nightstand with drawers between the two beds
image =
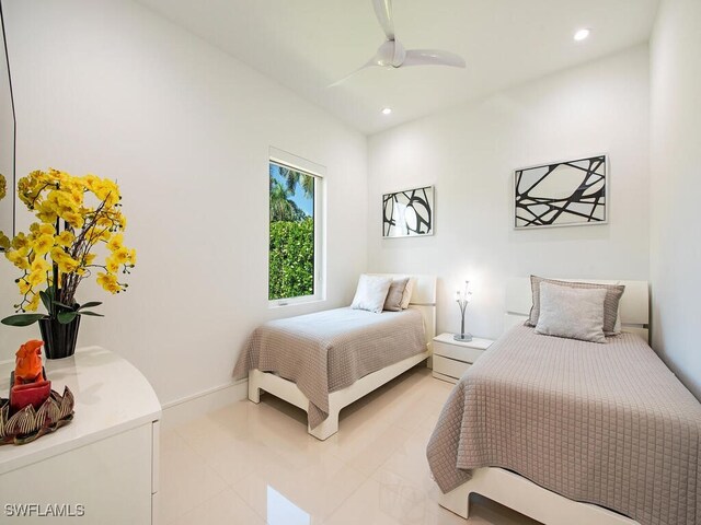
<path fill-rule="evenodd" d="M 434 337 L 434 377 L 457 383 L 482 352 L 494 342 L 473 337 L 471 341 L 456 341 L 453 334 Z"/>

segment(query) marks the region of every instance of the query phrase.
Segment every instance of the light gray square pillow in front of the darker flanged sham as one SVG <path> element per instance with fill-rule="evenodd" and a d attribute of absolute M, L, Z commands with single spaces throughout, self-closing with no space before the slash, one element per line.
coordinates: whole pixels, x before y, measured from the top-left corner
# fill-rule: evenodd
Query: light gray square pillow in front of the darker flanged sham
<path fill-rule="evenodd" d="M 604 288 L 581 289 L 540 283 L 540 315 L 536 334 L 606 342 Z"/>

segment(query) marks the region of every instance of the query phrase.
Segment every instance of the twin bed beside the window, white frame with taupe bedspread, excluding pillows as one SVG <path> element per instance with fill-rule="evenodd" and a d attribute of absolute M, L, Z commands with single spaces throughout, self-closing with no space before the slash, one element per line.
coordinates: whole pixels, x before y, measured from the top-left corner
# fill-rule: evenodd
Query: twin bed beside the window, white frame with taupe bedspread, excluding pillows
<path fill-rule="evenodd" d="M 430 355 L 436 278 L 412 278 L 401 312 L 337 308 L 256 328 L 234 370 L 234 376 L 249 373 L 249 399 L 260 402 L 265 390 L 306 410 L 314 438 L 335 434 L 341 409 Z"/>

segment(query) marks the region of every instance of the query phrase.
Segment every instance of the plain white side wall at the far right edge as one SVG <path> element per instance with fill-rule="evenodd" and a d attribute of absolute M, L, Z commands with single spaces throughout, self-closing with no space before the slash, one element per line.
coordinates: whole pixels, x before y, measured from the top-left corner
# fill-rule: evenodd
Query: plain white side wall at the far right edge
<path fill-rule="evenodd" d="M 701 398 L 701 2 L 665 0 L 651 40 L 653 348 Z"/>

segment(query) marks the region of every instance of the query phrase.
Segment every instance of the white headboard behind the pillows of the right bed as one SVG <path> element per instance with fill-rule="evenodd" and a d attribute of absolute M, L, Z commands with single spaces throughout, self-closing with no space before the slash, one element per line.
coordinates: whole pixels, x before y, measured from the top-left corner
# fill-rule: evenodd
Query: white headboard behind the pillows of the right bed
<path fill-rule="evenodd" d="M 623 331 L 640 335 L 648 341 L 650 323 L 650 289 L 647 281 L 617 281 L 617 280 L 587 280 L 587 279 L 558 279 L 561 281 L 598 282 L 601 284 L 623 284 L 625 292 L 619 305 L 619 315 Z M 532 305 L 532 292 L 530 278 L 519 277 L 506 282 L 506 315 L 504 329 L 522 324 L 530 315 Z"/>

